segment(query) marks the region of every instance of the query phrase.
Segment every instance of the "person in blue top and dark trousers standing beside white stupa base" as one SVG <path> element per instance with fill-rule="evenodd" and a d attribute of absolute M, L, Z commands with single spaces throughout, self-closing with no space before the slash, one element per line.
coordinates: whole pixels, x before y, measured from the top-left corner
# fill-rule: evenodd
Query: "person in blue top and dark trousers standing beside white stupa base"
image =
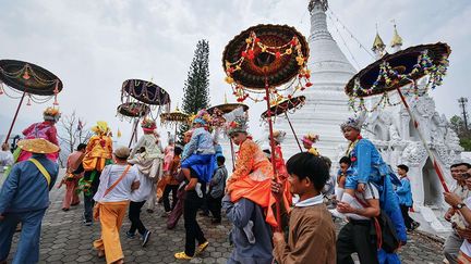
<path fill-rule="evenodd" d="M 412 190 L 410 180 L 408 178 L 409 167 L 404 164 L 400 164 L 398 167 L 398 174 L 400 177 L 401 186 L 397 188 L 396 193 L 399 198 L 399 206 L 401 209 L 402 218 L 404 219 L 408 231 L 416 229 L 420 224 L 409 216 L 409 209 L 412 208 Z"/>

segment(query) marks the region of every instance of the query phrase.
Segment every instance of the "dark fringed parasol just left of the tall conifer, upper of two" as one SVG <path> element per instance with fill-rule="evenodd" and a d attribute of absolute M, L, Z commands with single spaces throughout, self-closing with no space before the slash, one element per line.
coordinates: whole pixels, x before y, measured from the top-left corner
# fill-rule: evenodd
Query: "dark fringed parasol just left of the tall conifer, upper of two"
<path fill-rule="evenodd" d="M 157 115 L 160 114 L 161 109 L 166 112 L 170 111 L 170 95 L 156 84 L 142 79 L 126 79 L 124 80 L 121 89 L 121 102 L 135 102 L 140 101 L 152 109 L 152 112 L 157 108 Z M 154 117 L 154 120 L 156 120 Z"/>

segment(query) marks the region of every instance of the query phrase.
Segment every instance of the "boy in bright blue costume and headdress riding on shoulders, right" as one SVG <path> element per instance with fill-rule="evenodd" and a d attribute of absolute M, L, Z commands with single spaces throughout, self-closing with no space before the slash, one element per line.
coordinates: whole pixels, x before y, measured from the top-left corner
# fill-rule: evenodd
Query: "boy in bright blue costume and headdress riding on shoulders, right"
<path fill-rule="evenodd" d="M 379 191 L 381 209 L 389 216 L 396 227 L 396 234 L 402 244 L 407 242 L 406 226 L 399 208 L 399 200 L 392 185 L 401 186 L 392 169 L 383 161 L 376 147 L 360 135 L 365 115 L 349 118 L 340 125 L 343 137 L 350 141 L 345 153 L 350 158 L 352 174 L 346 180 L 346 193 L 353 196 L 355 191 L 364 192 L 367 183 L 372 183 Z M 379 263 L 400 263 L 396 253 L 378 250 Z"/>

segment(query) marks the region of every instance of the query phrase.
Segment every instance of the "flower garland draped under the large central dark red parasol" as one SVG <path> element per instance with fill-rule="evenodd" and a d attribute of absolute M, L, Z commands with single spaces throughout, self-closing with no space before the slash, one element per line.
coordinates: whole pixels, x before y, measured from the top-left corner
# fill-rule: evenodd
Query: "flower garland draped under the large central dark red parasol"
<path fill-rule="evenodd" d="M 251 100 L 255 102 L 264 101 L 265 98 L 258 99 L 255 97 L 252 97 L 250 92 L 258 92 L 263 93 L 264 91 L 255 91 L 253 89 L 249 89 L 246 87 L 243 87 L 242 85 L 238 84 L 233 78 L 232 74 L 234 72 L 241 71 L 242 63 L 244 63 L 245 60 L 253 61 L 255 60 L 255 54 L 257 52 L 266 52 L 268 54 L 274 55 L 276 59 L 280 59 L 286 55 L 291 55 L 293 52 L 295 52 L 297 56 L 295 60 L 298 62 L 298 65 L 301 66 L 299 70 L 298 78 L 295 78 L 288 88 L 294 86 L 294 89 L 292 89 L 292 93 L 286 96 L 286 98 L 291 98 L 292 95 L 299 90 L 304 90 L 307 87 L 312 86 L 312 83 L 310 81 L 311 78 L 311 72 L 306 67 L 306 58 L 304 58 L 302 52 L 302 45 L 299 41 L 297 36 L 293 36 L 292 39 L 281 46 L 269 46 L 267 43 L 262 42 L 262 40 L 257 37 L 255 32 L 251 32 L 250 36 L 245 39 L 245 48 L 243 49 L 241 53 L 241 58 L 237 60 L 235 62 L 229 62 L 226 61 L 226 81 L 231 85 L 232 87 L 232 95 L 237 97 L 238 102 L 243 102 L 245 99 L 250 98 Z M 288 88 L 282 90 L 288 90 Z M 250 92 L 249 92 L 250 91 Z M 285 97 L 280 93 L 280 89 L 271 88 L 270 95 L 274 98 L 277 97 Z"/>

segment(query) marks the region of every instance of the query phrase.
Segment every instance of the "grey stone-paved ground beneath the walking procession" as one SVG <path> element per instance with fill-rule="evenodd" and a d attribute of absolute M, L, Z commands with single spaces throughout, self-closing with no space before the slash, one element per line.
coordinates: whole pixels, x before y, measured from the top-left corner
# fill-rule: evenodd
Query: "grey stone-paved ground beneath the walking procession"
<path fill-rule="evenodd" d="M 51 191 L 51 206 L 43 222 L 40 242 L 40 263 L 105 263 L 98 259 L 92 242 L 99 236 L 99 224 L 84 226 L 82 224 L 82 203 L 69 212 L 61 211 L 61 199 L 64 188 Z M 185 263 L 176 261 L 173 253 L 184 248 L 183 219 L 173 230 L 167 230 L 166 218 L 160 217 L 161 209 L 154 214 L 143 212 L 143 222 L 153 232 L 146 248 L 141 247 L 138 238 L 128 239 L 121 236 L 125 263 Z M 230 225 L 227 219 L 221 225 L 212 225 L 207 217 L 200 217 L 198 223 L 209 240 L 209 247 L 201 257 L 190 263 L 226 263 L 231 252 L 227 239 Z M 339 225 L 337 225 L 339 227 Z M 122 234 L 130 227 L 124 221 Z M 9 262 L 15 252 L 17 235 L 10 252 Z M 421 234 L 412 234 L 400 255 L 402 263 L 442 263 L 442 242 Z"/>

